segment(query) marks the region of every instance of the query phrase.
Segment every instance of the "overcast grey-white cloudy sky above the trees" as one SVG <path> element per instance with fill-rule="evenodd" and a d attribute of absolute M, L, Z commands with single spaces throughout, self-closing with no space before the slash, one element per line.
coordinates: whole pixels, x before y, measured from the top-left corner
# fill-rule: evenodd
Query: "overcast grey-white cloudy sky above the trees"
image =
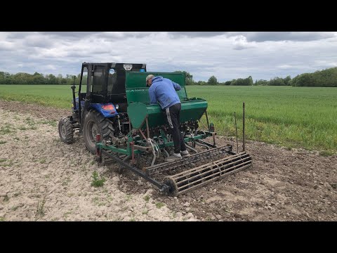
<path fill-rule="evenodd" d="M 185 70 L 194 81 L 293 78 L 337 67 L 337 32 L 0 32 L 0 71 L 79 74 L 84 61 Z"/>

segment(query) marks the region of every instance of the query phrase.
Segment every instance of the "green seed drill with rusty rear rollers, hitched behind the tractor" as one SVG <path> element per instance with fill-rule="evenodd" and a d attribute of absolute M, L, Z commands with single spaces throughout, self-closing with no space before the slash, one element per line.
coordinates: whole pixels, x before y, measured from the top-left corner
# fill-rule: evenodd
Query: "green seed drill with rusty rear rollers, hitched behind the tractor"
<path fill-rule="evenodd" d="M 162 73 L 161 75 L 164 76 Z M 165 75 L 173 80 L 176 77 L 180 84 L 184 83 L 184 79 L 176 74 Z M 126 96 L 131 131 L 124 136 L 123 141 L 119 141 L 118 145 L 112 144 L 111 141 L 101 142 L 98 136 L 96 148 L 100 162 L 118 162 L 121 167 L 142 176 L 157 186 L 161 192 L 169 195 L 186 193 L 221 176 L 227 176 L 251 166 L 251 156 L 245 151 L 234 153 L 232 145 L 216 146 L 216 132 L 213 130 L 213 124 L 209 124 L 206 100 L 187 98 L 184 85 L 182 85 L 182 91 L 178 91 L 182 101 L 180 131 L 192 155 L 169 162 L 161 159 L 169 156 L 173 141 L 169 134 L 169 126 L 165 122 L 164 112 L 159 105 L 150 105 L 147 101 L 148 91 L 143 87 L 144 82 L 140 81 L 144 79 L 145 76 L 140 73 L 126 74 Z M 203 115 L 206 116 L 208 131 L 199 130 L 199 119 Z M 205 138 L 213 138 L 213 144 L 202 140 Z M 198 152 L 197 145 L 205 150 Z M 145 160 L 143 166 L 140 163 L 141 157 Z"/>

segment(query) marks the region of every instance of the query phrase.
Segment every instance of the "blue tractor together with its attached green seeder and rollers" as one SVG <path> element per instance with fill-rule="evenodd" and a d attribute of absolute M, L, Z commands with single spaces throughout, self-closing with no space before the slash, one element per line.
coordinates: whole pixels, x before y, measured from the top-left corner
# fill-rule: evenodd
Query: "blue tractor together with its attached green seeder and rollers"
<path fill-rule="evenodd" d="M 150 104 L 145 78 L 162 76 L 180 84 L 180 134 L 192 152 L 182 160 L 165 161 L 173 152 L 171 129 L 159 104 Z M 86 92 L 82 88 L 86 87 Z M 251 155 L 234 153 L 232 145 L 216 145 L 216 131 L 203 98 L 188 98 L 185 73 L 147 72 L 146 64 L 82 63 L 78 97 L 72 87 L 72 115 L 60 118 L 60 139 L 83 135 L 86 148 L 100 164 L 122 168 L 157 186 L 166 195 L 180 195 L 221 176 L 251 167 Z M 201 117 L 206 129 L 200 129 Z M 213 139 L 213 143 L 205 139 Z M 201 151 L 197 150 L 197 145 Z M 244 146 L 243 146 L 244 147 Z"/>

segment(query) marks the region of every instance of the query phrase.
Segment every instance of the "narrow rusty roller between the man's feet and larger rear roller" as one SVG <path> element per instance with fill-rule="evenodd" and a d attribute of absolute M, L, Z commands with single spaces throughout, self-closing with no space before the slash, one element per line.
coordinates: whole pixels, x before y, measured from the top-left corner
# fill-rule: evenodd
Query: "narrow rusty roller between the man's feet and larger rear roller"
<path fill-rule="evenodd" d="M 175 169 L 176 167 L 183 167 L 183 166 L 190 165 L 191 162 L 200 162 L 201 160 L 204 160 L 205 158 L 209 159 L 211 157 L 215 157 L 216 155 L 221 155 L 221 154 L 231 153 L 231 152 L 232 152 L 232 145 L 223 145 L 218 148 L 211 148 L 209 150 L 204 150 L 200 153 L 192 154 L 189 157 L 183 157 L 181 160 L 169 161 L 169 162 L 164 162 L 161 164 L 156 164 L 151 167 L 145 167 L 143 170 L 145 171 L 145 174 L 147 174 L 147 176 L 150 176 L 153 174 L 159 174 L 164 171 Z"/>

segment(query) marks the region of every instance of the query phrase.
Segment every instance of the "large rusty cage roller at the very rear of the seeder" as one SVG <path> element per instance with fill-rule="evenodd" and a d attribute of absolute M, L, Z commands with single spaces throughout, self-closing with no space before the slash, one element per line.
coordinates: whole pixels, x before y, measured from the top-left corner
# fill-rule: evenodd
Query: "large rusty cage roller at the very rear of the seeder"
<path fill-rule="evenodd" d="M 179 195 L 210 183 L 221 176 L 251 167 L 251 156 L 246 152 L 231 155 L 199 167 L 188 169 L 173 176 L 167 176 L 164 183 L 170 186 L 172 195 Z"/>

